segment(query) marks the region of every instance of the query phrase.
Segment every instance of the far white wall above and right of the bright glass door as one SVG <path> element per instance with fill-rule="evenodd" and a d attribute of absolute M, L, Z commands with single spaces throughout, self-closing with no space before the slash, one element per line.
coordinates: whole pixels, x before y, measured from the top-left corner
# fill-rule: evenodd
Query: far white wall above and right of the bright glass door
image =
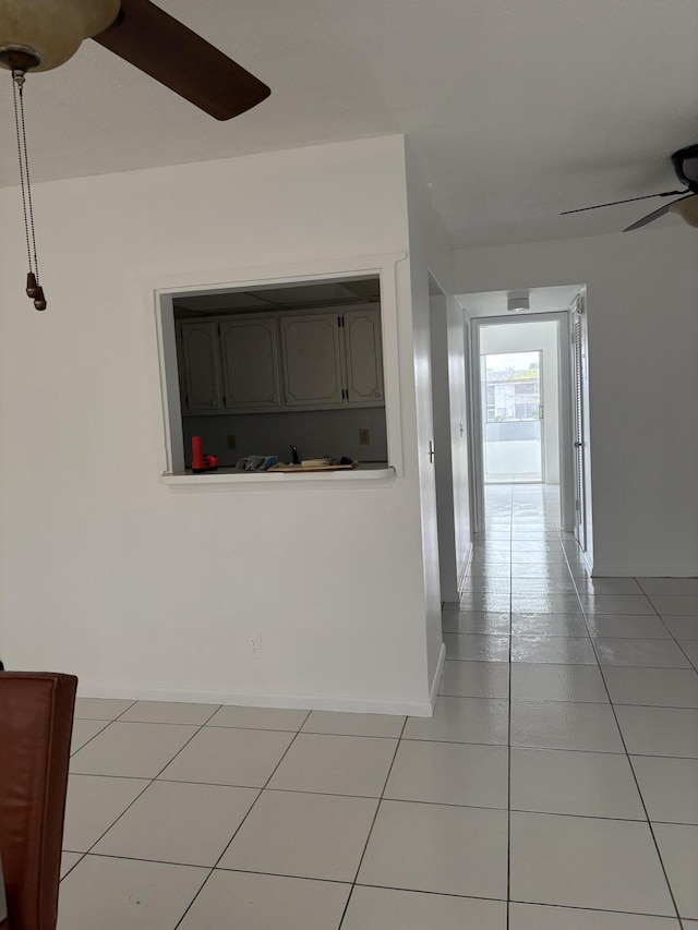
<path fill-rule="evenodd" d="M 547 484 L 559 484 L 557 323 L 554 321 L 527 322 L 525 318 L 521 318 L 519 323 L 494 323 L 488 326 L 484 321 L 481 321 L 481 354 L 533 352 L 537 350 L 543 352 L 543 447 L 545 455 L 545 481 Z M 506 449 L 504 451 L 506 454 Z M 521 471 L 526 470 L 521 466 Z"/>

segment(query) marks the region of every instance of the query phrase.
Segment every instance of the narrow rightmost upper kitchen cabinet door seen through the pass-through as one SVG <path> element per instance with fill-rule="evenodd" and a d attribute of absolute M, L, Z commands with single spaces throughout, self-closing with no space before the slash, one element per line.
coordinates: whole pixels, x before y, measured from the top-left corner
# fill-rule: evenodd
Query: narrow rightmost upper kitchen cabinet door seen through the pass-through
<path fill-rule="evenodd" d="M 347 400 L 349 403 L 382 404 L 383 345 L 378 310 L 347 310 L 344 313 Z"/>

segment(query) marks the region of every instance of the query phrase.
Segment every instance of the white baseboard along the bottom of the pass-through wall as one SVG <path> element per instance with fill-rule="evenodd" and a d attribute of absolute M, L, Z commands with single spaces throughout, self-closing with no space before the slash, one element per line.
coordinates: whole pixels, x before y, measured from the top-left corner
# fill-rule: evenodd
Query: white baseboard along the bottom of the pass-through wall
<path fill-rule="evenodd" d="M 436 689 L 441 680 L 444 647 L 440 656 Z M 345 711 L 359 714 L 408 714 L 416 717 L 430 717 L 433 714 L 433 700 L 396 701 L 388 698 L 329 698 L 318 695 L 250 695 L 233 691 L 185 691 L 179 688 L 139 688 L 118 685 L 95 685 L 81 683 L 77 688 L 80 698 L 118 698 L 129 701 L 183 701 L 191 704 L 239 704 L 252 708 L 284 708 L 302 711 Z"/>

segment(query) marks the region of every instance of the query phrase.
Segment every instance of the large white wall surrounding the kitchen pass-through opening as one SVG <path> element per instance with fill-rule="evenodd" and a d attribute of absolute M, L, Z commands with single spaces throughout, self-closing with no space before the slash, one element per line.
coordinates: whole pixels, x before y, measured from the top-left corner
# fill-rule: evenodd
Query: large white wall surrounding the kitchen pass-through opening
<path fill-rule="evenodd" d="M 22 290 L 19 194 L 0 191 L 8 665 L 75 672 L 92 695 L 429 713 L 407 262 L 405 476 L 385 488 L 165 486 L 148 299 L 188 276 L 406 252 L 402 138 L 39 184 L 35 216 L 45 314 Z"/>

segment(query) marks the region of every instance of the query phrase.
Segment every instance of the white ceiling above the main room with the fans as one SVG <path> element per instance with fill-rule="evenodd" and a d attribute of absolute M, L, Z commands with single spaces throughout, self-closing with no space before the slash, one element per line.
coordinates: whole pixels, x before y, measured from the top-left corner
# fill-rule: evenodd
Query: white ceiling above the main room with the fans
<path fill-rule="evenodd" d="M 35 180 L 400 132 L 453 245 L 488 245 L 619 230 L 661 202 L 557 214 L 671 190 L 669 156 L 698 142 L 696 0 L 159 5 L 272 97 L 219 123 L 86 41 L 27 80 Z M 0 134 L 2 185 L 16 183 L 14 145 Z"/>

